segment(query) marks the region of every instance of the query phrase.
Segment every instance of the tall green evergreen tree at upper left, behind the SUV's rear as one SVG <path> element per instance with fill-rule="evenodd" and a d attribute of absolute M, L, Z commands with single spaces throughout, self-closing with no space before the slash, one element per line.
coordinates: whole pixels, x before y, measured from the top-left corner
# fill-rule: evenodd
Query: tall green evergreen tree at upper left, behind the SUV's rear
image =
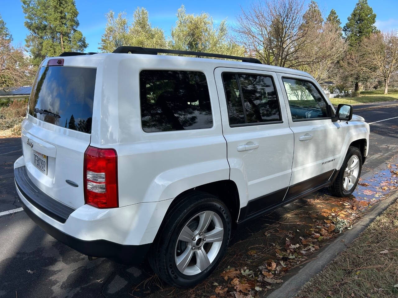
<path fill-rule="evenodd" d="M 21 0 L 25 27 L 29 30 L 25 41 L 32 63 L 39 65 L 48 56 L 62 52 L 83 51 L 88 44 L 77 30 L 78 11 L 74 0 Z"/>

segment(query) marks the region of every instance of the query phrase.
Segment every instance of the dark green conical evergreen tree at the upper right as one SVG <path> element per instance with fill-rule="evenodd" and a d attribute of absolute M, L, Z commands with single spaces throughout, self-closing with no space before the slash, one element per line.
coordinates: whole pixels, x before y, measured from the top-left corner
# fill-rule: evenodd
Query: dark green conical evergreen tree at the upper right
<path fill-rule="evenodd" d="M 375 26 L 376 14 L 368 5 L 367 0 L 358 0 L 351 15 L 347 18 L 347 23 L 343 27 L 346 42 L 350 47 L 359 45 L 364 37 L 369 37 L 371 33 L 378 30 Z"/>

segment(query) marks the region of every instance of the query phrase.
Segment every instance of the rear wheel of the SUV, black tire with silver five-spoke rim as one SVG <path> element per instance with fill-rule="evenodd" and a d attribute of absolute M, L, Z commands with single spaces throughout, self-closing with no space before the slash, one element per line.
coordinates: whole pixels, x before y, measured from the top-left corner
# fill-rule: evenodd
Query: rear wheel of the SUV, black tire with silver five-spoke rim
<path fill-rule="evenodd" d="M 228 208 L 214 195 L 195 192 L 168 212 L 152 244 L 149 263 L 166 283 L 194 286 L 220 263 L 231 233 Z"/>

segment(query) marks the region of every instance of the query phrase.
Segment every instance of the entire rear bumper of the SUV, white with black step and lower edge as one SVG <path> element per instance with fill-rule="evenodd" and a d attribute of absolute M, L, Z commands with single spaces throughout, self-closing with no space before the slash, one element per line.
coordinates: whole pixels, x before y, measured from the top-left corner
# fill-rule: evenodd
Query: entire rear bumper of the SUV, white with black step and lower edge
<path fill-rule="evenodd" d="M 140 263 L 160 225 L 158 211 L 167 202 L 98 209 L 72 209 L 49 197 L 30 180 L 23 157 L 14 164 L 16 191 L 27 215 L 45 232 L 74 250 L 120 263 Z M 67 184 L 66 184 L 67 185 Z M 67 191 L 66 186 L 66 190 Z"/>

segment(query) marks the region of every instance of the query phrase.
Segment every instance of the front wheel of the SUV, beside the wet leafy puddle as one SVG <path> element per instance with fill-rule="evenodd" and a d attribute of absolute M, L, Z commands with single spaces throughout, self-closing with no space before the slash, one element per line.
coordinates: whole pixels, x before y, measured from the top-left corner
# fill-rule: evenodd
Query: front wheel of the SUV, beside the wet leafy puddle
<path fill-rule="evenodd" d="M 341 165 L 339 174 L 329 187 L 329 191 L 336 197 L 347 197 L 357 187 L 362 170 L 362 153 L 357 147 L 350 146 Z"/>

